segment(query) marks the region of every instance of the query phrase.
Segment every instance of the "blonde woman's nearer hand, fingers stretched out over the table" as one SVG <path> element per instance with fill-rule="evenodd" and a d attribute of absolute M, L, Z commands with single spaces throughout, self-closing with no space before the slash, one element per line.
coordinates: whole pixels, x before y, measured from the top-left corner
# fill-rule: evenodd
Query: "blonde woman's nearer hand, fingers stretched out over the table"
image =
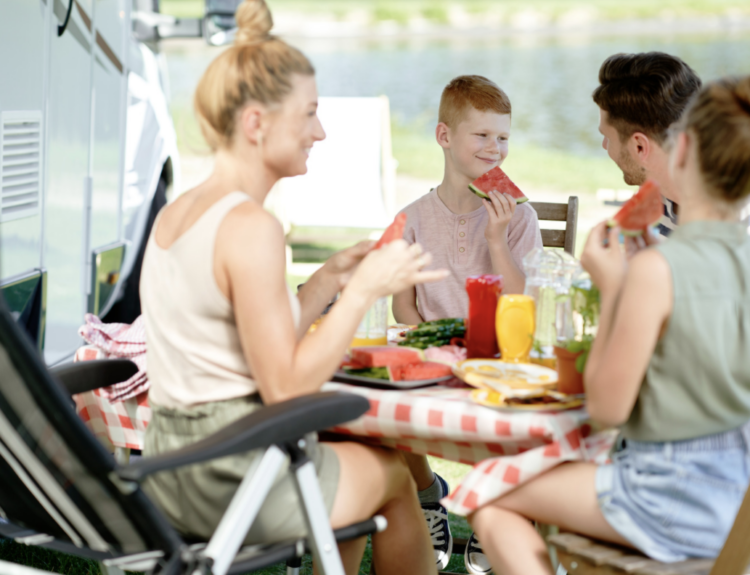
<path fill-rule="evenodd" d="M 404 291 L 419 283 L 439 281 L 448 270 L 422 271 L 432 262 L 432 256 L 419 244 L 409 245 L 396 240 L 373 250 L 362 260 L 349 281 L 347 289 L 359 290 L 377 299 Z"/>

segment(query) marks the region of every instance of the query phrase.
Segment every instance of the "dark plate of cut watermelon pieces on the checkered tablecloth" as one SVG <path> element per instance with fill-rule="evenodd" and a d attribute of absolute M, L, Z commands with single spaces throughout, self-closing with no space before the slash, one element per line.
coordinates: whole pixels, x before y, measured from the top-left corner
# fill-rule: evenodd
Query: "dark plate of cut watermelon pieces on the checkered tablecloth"
<path fill-rule="evenodd" d="M 425 361 L 422 350 L 409 347 L 368 346 L 353 347 L 334 374 L 334 381 L 414 389 L 435 385 L 453 377 L 450 365 Z"/>

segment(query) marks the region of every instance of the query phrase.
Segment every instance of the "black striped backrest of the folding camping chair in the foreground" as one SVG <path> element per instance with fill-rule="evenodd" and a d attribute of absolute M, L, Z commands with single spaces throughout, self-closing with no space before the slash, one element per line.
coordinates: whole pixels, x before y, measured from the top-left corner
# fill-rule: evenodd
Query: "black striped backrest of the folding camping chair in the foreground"
<path fill-rule="evenodd" d="M 152 502 L 114 473 L 115 461 L 0 297 L 0 509 L 17 526 L 119 555 L 182 540 Z"/>

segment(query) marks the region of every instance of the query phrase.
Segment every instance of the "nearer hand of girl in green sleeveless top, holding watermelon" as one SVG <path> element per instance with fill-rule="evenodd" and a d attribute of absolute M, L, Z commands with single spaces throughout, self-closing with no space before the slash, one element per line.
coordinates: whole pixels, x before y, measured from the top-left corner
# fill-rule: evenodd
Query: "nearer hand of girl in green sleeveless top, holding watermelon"
<path fill-rule="evenodd" d="M 620 228 L 609 228 L 607 222 L 591 230 L 581 254 L 581 265 L 602 293 L 617 291 L 627 271 L 627 259 L 620 247 Z"/>

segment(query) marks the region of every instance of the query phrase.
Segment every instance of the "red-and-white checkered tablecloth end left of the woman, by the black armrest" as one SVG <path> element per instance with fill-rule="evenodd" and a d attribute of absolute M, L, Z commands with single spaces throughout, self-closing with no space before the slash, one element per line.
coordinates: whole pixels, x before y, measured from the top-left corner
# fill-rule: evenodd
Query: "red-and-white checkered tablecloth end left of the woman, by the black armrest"
<path fill-rule="evenodd" d="M 87 345 L 78 349 L 74 361 L 104 359 L 107 354 L 101 349 Z M 76 411 L 86 426 L 105 445 L 143 449 L 143 437 L 151 421 L 148 404 L 148 388 L 135 397 L 112 401 L 101 389 L 73 396 Z"/>

